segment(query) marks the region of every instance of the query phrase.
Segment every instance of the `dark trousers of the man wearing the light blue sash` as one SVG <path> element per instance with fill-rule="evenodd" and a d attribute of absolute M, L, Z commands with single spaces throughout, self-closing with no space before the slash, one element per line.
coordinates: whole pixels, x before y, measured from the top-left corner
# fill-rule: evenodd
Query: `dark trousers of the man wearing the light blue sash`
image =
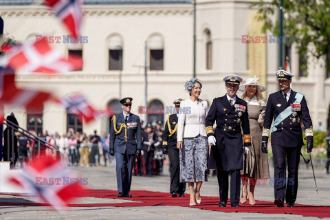
<path fill-rule="evenodd" d="M 285 147 L 272 145 L 274 156 L 274 194 L 275 199 L 282 199 L 287 203 L 294 203 L 298 190 L 298 167 L 301 147 Z M 286 162 L 287 159 L 287 171 Z M 287 176 L 287 178 L 286 178 Z"/>

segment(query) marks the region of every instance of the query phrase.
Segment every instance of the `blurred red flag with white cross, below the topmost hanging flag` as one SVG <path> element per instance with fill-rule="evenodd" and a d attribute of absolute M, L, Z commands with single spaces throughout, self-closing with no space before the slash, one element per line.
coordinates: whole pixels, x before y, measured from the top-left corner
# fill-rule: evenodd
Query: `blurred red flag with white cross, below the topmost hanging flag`
<path fill-rule="evenodd" d="M 69 61 L 67 61 L 61 56 L 60 52 L 50 47 L 45 37 L 34 43 L 12 47 L 8 50 L 8 54 L 3 58 L 2 62 L 13 69 L 48 74 L 69 72 L 80 69 L 83 66 L 81 57 L 70 57 Z"/>

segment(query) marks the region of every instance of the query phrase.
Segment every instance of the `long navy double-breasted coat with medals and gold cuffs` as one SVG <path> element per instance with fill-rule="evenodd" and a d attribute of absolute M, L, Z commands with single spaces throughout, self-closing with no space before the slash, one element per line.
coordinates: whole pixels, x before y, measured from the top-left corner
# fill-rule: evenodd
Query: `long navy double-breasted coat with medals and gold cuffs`
<path fill-rule="evenodd" d="M 217 123 L 215 131 L 214 122 Z M 248 103 L 236 96 L 236 102 L 231 106 L 227 95 L 214 98 L 206 117 L 206 133 L 208 137 L 215 134 L 217 140 L 216 145 L 211 147 L 209 168 L 241 170 L 243 146 L 251 146 Z"/>

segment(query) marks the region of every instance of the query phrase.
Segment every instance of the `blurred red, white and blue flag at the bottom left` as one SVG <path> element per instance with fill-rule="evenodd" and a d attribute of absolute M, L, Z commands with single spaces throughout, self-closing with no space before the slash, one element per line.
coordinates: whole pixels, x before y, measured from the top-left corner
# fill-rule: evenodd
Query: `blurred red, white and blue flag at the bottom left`
<path fill-rule="evenodd" d="M 25 192 L 32 192 L 31 199 L 40 198 L 58 211 L 82 195 L 84 185 L 88 184 L 88 179 L 79 178 L 51 156 L 34 159 L 34 164 L 25 166 L 21 175 L 8 177 L 8 181 Z"/>

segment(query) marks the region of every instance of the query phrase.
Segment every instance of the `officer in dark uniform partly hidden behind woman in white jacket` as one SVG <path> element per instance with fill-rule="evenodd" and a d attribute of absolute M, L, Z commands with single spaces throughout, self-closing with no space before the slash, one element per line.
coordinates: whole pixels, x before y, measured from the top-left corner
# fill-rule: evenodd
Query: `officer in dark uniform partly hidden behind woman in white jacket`
<path fill-rule="evenodd" d="M 186 183 L 180 183 L 180 158 L 179 149 L 177 148 L 177 114 L 179 113 L 180 102 L 183 99 L 179 98 L 173 102 L 177 113 L 168 115 L 164 127 L 163 135 L 163 151 L 168 153 L 170 159 L 170 194 L 172 197 L 184 197 Z"/>

